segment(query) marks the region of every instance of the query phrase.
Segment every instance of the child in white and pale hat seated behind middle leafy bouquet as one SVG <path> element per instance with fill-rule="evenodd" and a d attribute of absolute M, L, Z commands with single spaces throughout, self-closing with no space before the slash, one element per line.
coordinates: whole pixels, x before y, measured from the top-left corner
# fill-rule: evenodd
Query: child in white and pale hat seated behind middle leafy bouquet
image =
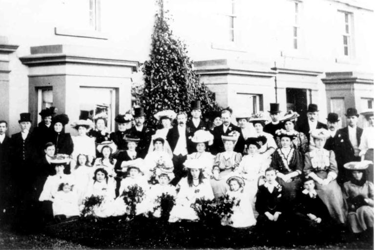
<path fill-rule="evenodd" d="M 153 216 L 160 218 L 161 217 L 161 203 L 158 200 L 163 194 L 173 196 L 176 198 L 176 187 L 169 184 L 170 178 L 167 173 L 161 173 L 158 176 L 159 184 L 153 185 L 150 188 L 148 193 L 147 200 L 149 202 L 149 211 L 153 214 Z"/>

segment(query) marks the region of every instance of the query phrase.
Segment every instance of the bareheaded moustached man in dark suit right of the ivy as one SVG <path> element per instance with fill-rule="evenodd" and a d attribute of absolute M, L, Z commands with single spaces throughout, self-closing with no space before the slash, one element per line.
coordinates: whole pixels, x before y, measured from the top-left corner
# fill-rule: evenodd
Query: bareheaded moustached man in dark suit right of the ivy
<path fill-rule="evenodd" d="M 224 109 L 221 111 L 221 120 L 223 121 L 223 124 L 217 127 L 214 127 L 213 129 L 213 144 L 211 146 L 211 153 L 216 155 L 217 153 L 221 153 L 225 151 L 224 143 L 221 139 L 222 135 L 229 135 L 233 131 L 237 131 L 239 133 L 239 137 L 236 143 L 236 146 L 234 146 L 234 151 L 238 153 L 243 153 L 244 151 L 244 145 L 245 140 L 241 132 L 241 128 L 233 125 L 231 120 L 231 113 L 229 110 Z"/>

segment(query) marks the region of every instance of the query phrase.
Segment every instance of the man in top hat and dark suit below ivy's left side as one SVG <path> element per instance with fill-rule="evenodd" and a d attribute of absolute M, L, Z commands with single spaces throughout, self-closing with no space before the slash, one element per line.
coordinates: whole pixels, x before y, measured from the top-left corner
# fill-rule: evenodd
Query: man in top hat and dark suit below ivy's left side
<path fill-rule="evenodd" d="M 134 122 L 135 126 L 127 129 L 125 134 L 130 134 L 140 139 L 137 150 L 139 156 L 143 159 L 147 154 L 148 146 L 150 146 L 151 137 L 155 134 L 155 130 L 144 125 L 145 113 L 143 107 L 134 108 Z"/>

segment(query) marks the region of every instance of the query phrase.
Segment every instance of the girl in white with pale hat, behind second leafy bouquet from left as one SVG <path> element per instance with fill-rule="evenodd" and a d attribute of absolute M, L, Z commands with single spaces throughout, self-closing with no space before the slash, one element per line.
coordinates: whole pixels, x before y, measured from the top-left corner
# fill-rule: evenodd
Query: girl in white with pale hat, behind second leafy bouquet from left
<path fill-rule="evenodd" d="M 149 186 L 145 176 L 142 175 L 141 170 L 137 166 L 129 166 L 127 168 L 127 171 L 129 176 L 121 181 L 119 189 L 120 195 L 115 200 L 113 216 L 121 216 L 124 214 L 129 215 L 129 207 L 125 204 L 124 201 L 124 191 L 128 191 L 129 187 L 135 185 L 137 185 L 138 187 L 142 187 L 143 190 L 143 195 L 142 197 L 140 197 L 141 200 L 136 206 L 136 215 L 145 213 L 149 208 L 149 206 L 147 206 L 147 201 L 145 200 L 146 195 L 149 191 Z"/>

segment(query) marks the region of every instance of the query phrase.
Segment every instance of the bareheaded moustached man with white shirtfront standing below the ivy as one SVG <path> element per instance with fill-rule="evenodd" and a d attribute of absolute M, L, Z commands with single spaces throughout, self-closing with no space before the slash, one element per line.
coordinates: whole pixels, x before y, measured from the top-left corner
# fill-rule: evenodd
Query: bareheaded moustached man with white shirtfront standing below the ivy
<path fill-rule="evenodd" d="M 177 114 L 177 125 L 170 128 L 167 133 L 167 142 L 173 152 L 172 162 L 175 177 L 171 181 L 172 185 L 176 185 L 185 175 L 183 164 L 187 158 L 187 147 L 191 139 L 188 138 L 186 121 L 187 114 L 185 112 L 179 112 Z"/>

